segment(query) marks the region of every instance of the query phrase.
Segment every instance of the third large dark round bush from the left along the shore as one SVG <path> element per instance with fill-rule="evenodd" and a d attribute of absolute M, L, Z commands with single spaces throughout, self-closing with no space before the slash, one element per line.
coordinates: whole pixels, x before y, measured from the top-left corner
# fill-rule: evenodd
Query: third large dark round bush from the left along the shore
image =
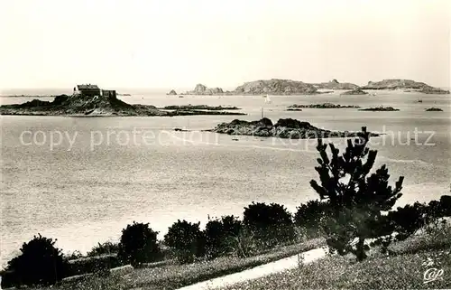
<path fill-rule="evenodd" d="M 198 223 L 178 220 L 170 226 L 164 236 L 164 243 L 172 249 L 179 263 L 191 263 L 195 257 L 205 255 L 205 239 Z"/>

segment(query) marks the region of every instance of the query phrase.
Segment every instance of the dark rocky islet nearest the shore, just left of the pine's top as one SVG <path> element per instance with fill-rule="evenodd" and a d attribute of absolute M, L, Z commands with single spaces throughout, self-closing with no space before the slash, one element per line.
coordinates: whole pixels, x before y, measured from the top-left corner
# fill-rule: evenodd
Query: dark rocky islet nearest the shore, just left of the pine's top
<path fill-rule="evenodd" d="M 228 135 L 279 137 L 289 139 L 351 137 L 357 136 L 358 134 L 356 132 L 324 130 L 312 126 L 308 122 L 301 122 L 292 118 L 279 119 L 276 124 L 272 124 L 272 120 L 266 117 L 252 122 L 235 119 L 230 123 L 219 124 L 211 131 Z M 372 134 L 371 136 L 378 135 Z"/>

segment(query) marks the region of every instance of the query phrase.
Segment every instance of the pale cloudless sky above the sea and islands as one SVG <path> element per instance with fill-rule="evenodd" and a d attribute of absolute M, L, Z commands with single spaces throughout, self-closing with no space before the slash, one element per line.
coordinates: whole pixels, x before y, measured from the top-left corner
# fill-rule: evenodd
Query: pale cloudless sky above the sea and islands
<path fill-rule="evenodd" d="M 0 89 L 450 86 L 451 1 L 0 0 Z"/>

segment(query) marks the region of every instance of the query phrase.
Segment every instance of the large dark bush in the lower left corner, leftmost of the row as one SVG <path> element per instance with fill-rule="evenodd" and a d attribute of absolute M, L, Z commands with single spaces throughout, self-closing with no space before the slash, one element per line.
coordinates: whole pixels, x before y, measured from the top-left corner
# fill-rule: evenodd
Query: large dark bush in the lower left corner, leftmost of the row
<path fill-rule="evenodd" d="M 8 262 L 17 285 L 53 285 L 65 276 L 67 261 L 55 241 L 39 236 L 23 243 L 22 254 Z"/>

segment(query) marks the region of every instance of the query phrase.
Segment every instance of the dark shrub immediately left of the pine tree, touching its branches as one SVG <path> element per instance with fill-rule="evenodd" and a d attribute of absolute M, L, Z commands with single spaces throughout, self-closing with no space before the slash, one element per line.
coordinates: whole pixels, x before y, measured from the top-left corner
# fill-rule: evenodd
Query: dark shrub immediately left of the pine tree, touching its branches
<path fill-rule="evenodd" d="M 301 228 L 309 238 L 316 238 L 321 232 L 327 217 L 328 202 L 308 201 L 301 204 L 294 214 L 294 223 Z"/>

